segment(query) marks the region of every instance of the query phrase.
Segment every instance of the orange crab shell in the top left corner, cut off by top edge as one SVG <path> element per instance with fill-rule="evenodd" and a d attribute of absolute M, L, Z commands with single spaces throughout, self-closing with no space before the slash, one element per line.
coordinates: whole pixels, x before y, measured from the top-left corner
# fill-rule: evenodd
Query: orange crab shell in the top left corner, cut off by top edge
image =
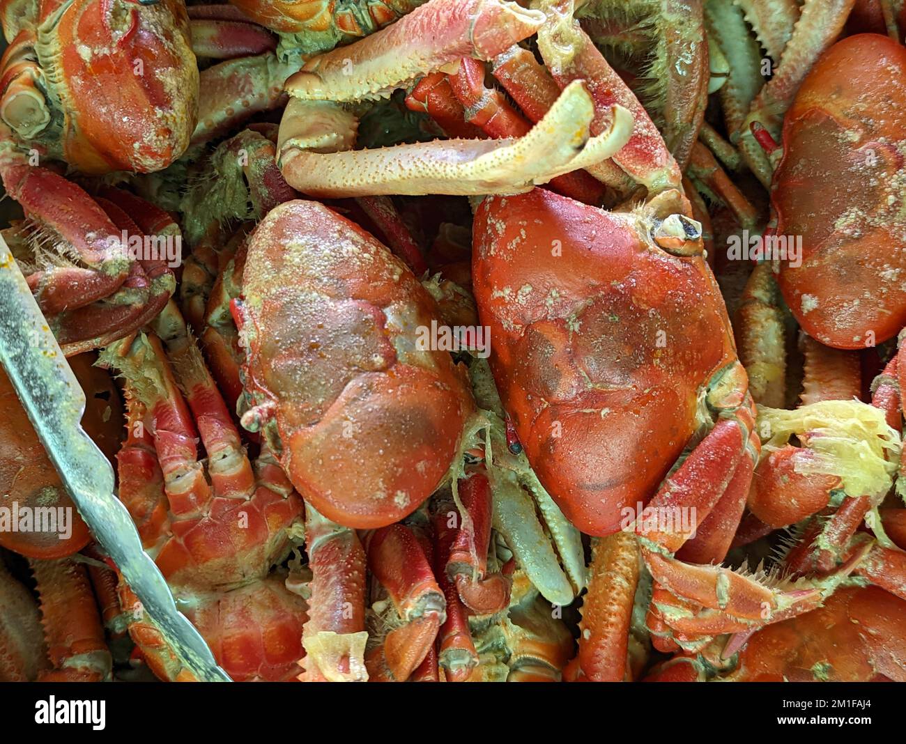
<path fill-rule="evenodd" d="M 63 110 L 63 159 L 88 174 L 168 166 L 188 147 L 198 115 L 186 6 L 78 0 L 62 13 L 60 6 L 41 4 L 37 45 L 51 52 L 38 57 Z"/>

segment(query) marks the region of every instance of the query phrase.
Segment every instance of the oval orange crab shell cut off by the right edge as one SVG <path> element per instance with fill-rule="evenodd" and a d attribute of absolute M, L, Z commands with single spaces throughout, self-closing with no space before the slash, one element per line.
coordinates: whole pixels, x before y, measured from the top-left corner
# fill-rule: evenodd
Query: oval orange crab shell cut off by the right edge
<path fill-rule="evenodd" d="M 784 121 L 772 200 L 802 265 L 781 262 L 780 289 L 828 346 L 873 346 L 906 325 L 904 77 L 900 44 L 850 36 L 815 62 Z"/>

